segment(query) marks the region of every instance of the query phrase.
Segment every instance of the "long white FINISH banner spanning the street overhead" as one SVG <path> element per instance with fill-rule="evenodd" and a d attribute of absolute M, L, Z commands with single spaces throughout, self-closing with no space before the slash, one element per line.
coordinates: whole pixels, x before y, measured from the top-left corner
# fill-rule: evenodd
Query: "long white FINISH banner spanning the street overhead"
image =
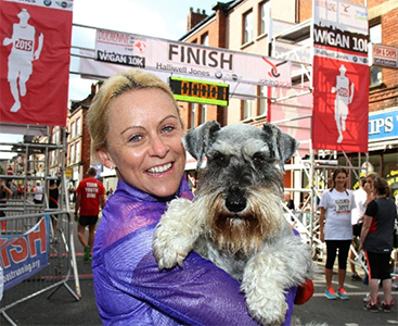
<path fill-rule="evenodd" d="M 97 30 L 95 60 L 193 79 L 291 86 L 290 61 L 113 30 Z"/>

